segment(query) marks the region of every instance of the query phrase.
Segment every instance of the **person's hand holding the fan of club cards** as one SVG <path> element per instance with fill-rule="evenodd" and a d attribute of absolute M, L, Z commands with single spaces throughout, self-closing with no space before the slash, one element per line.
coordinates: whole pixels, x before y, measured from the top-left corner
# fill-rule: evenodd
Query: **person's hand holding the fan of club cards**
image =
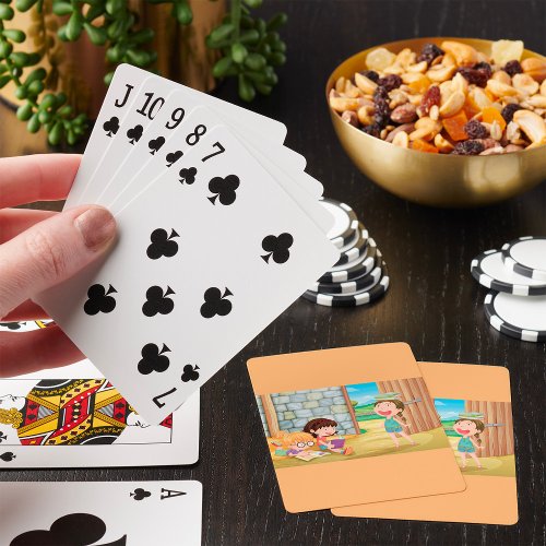
<path fill-rule="evenodd" d="M 29 155 L 0 159 L 0 321 L 48 318 L 32 298 L 85 268 L 116 235 L 114 216 L 82 205 L 57 213 L 10 209 L 64 199 L 81 156 Z M 64 366 L 84 358 L 59 327 L 0 332 L 0 377 Z"/>

